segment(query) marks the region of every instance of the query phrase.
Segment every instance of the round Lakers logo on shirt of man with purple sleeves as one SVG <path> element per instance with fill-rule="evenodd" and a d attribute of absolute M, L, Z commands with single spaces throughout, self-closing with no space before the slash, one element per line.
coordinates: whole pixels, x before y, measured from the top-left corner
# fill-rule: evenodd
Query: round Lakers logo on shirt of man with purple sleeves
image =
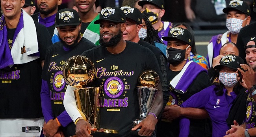
<path fill-rule="evenodd" d="M 62 71 L 59 71 L 54 75 L 53 81 L 54 90 L 61 91 L 65 87 L 65 81 L 62 75 Z"/>

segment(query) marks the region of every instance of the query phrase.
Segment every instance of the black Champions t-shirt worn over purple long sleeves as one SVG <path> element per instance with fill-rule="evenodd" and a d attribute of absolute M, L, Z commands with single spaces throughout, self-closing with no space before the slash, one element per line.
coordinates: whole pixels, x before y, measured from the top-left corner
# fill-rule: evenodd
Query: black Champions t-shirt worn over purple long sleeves
<path fill-rule="evenodd" d="M 77 46 L 69 51 L 63 49 L 61 42 L 54 43 L 47 49 L 42 79 L 47 81 L 49 87 L 49 96 L 54 117 L 57 117 L 65 111 L 63 99 L 68 85 L 63 79 L 61 71 L 65 61 L 72 56 L 81 55 L 85 50 L 89 50 L 93 47 L 95 47 L 95 45 L 91 41 L 82 37 Z M 62 128 L 65 137 L 74 135 L 76 132 L 73 122 L 66 127 L 62 126 Z"/>

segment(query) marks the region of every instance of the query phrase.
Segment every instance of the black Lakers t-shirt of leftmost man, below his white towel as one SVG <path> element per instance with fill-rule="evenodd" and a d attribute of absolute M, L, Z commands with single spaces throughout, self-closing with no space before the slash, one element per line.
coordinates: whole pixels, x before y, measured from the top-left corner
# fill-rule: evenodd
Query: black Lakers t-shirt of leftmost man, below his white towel
<path fill-rule="evenodd" d="M 40 99 L 41 60 L 45 59 L 45 50 L 52 45 L 52 41 L 43 25 L 35 22 L 35 28 L 40 58 L 25 64 L 15 64 L 11 68 L 0 69 L 1 119 L 43 117 Z"/>

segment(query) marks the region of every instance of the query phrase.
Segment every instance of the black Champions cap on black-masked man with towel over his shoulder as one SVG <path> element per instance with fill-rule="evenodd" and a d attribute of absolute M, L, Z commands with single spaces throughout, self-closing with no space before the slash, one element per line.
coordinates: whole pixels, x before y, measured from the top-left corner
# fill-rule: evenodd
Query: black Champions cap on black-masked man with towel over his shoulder
<path fill-rule="evenodd" d="M 180 27 L 174 27 L 169 30 L 168 36 L 162 37 L 163 40 L 181 40 L 189 45 L 193 45 L 192 43 L 192 34 L 187 30 Z"/>

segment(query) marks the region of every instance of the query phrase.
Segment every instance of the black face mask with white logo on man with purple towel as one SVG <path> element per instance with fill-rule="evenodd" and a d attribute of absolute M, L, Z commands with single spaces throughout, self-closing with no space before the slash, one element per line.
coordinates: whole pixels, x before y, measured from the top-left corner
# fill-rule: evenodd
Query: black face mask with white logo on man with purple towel
<path fill-rule="evenodd" d="M 190 45 L 189 45 L 190 46 Z M 188 46 L 188 47 L 189 47 Z M 188 48 L 187 47 L 187 48 Z M 185 55 L 186 55 L 186 49 L 175 49 L 172 47 L 169 47 L 166 49 L 166 57 L 167 57 L 167 61 L 172 64 L 173 62 L 176 61 L 183 61 L 183 60 L 187 60 L 185 59 Z"/>

